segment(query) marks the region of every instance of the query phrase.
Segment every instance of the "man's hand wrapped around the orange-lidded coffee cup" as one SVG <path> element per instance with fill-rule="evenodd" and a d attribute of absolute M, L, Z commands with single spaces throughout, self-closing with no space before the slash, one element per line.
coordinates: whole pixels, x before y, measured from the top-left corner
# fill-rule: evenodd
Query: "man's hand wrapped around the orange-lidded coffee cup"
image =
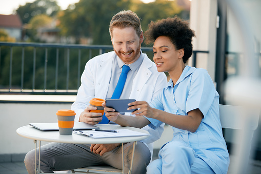
<path fill-rule="evenodd" d="M 96 110 L 96 107 L 87 106 L 79 117 L 79 122 L 85 122 L 88 124 L 98 124 L 103 120 L 102 113 L 90 112 L 90 110 Z"/>

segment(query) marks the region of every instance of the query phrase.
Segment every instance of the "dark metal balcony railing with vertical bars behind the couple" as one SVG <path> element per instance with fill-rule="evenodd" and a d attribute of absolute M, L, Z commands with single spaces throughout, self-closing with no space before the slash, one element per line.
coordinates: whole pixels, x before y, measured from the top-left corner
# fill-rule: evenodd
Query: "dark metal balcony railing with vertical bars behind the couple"
<path fill-rule="evenodd" d="M 141 49 L 153 57 L 151 47 Z M 0 42 L 0 93 L 76 94 L 86 62 L 112 50 L 107 45 Z M 208 51 L 193 51 L 193 66 L 197 53 Z"/>

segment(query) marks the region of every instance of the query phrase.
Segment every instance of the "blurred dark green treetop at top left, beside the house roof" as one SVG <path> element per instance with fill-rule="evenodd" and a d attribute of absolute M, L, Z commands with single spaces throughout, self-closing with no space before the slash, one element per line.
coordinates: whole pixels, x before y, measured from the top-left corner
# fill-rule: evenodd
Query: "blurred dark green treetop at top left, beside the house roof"
<path fill-rule="evenodd" d="M 60 9 L 54 0 L 36 0 L 33 3 L 19 6 L 15 11 L 21 17 L 23 24 L 28 24 L 31 18 L 38 14 L 55 16 Z"/>

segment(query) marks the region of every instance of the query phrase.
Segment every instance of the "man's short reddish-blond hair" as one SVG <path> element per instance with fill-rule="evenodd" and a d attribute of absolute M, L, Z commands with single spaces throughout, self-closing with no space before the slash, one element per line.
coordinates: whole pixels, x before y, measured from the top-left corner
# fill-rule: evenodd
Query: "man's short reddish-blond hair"
<path fill-rule="evenodd" d="M 142 26 L 140 26 L 140 20 L 136 13 L 131 10 L 123 10 L 115 14 L 110 22 L 110 35 L 112 37 L 112 29 L 133 27 L 136 30 L 138 36 L 142 33 Z"/>

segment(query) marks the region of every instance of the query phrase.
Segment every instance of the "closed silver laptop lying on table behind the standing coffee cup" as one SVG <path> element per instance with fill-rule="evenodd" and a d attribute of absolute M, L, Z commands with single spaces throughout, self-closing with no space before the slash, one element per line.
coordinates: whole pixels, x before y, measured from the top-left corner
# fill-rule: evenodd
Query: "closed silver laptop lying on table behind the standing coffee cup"
<path fill-rule="evenodd" d="M 58 123 L 30 123 L 30 126 L 42 131 L 59 130 Z M 99 127 L 83 122 L 74 122 L 73 130 L 92 130 L 99 129 Z"/>

